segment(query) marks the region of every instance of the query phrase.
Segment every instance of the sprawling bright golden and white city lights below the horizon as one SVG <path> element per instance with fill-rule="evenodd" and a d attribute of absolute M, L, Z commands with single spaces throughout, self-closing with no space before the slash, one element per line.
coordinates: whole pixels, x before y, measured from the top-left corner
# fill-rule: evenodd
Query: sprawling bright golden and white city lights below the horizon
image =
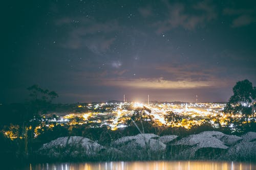
<path fill-rule="evenodd" d="M 228 120 L 237 118 L 241 119 L 241 114 L 223 114 L 223 108 L 225 104 L 222 103 L 161 103 L 161 104 L 143 104 L 139 102 L 131 103 L 95 103 L 88 105 L 78 105 L 78 108 L 87 107 L 92 112 L 86 113 L 71 113 L 65 116 L 58 116 L 58 118 L 45 118 L 48 123 L 37 126 L 34 129 L 35 137 L 38 136 L 44 128 L 51 129 L 55 125 L 60 124 L 61 126 L 67 125 L 82 125 L 96 123 L 99 126 L 108 126 L 112 130 L 126 127 L 126 122 L 131 118 L 134 110 L 150 109 L 151 112 L 144 110 L 143 112 L 147 115 L 152 115 L 154 123 L 158 126 L 171 126 L 171 127 L 184 127 L 191 128 L 192 126 L 200 126 L 207 119 L 208 122 L 218 128 L 219 126 L 227 126 Z M 105 111 L 100 111 L 102 108 Z M 98 110 L 98 111 L 97 111 Z M 172 111 L 176 115 L 180 116 L 181 119 L 177 122 L 168 122 L 165 119 L 165 115 Z M 249 116 L 249 120 L 255 119 L 254 115 Z M 77 122 L 79 121 L 79 122 Z M 218 124 L 216 124 L 218 122 Z M 243 120 L 243 123 L 246 123 Z M 95 126 L 92 126 L 92 128 Z M 233 125 L 230 124 L 230 128 Z M 28 130 L 31 130 L 28 129 Z M 12 130 L 5 131 L 5 135 L 10 138 L 17 138 L 18 136 Z"/>

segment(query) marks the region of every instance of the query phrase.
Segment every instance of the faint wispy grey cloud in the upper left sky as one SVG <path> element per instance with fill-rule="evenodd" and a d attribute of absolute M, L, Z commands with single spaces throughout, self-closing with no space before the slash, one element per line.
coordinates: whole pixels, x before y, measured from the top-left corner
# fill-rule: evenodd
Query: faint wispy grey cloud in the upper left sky
<path fill-rule="evenodd" d="M 62 47 L 79 49 L 87 47 L 91 52 L 102 55 L 109 51 L 116 40 L 111 33 L 119 30 L 116 21 L 98 22 L 93 18 L 71 19 L 63 17 L 55 22 L 58 27 L 67 27 L 67 40 Z"/>

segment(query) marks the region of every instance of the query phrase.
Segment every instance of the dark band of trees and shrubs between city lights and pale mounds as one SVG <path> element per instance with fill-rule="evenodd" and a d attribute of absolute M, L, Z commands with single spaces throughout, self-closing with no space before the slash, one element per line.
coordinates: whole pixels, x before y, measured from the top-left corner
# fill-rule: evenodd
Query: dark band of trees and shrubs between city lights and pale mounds
<path fill-rule="evenodd" d="M 126 122 L 128 126 L 115 131 L 110 130 L 108 126 L 99 127 L 97 123 L 82 125 L 72 123 L 62 125 L 53 123 L 53 126 L 46 126 L 47 119 L 45 118 L 45 114 L 48 111 L 68 110 L 80 113 L 87 111 L 87 108 L 77 108 L 77 104 L 53 104 L 52 101 L 57 98 L 58 94 L 54 91 L 42 89 L 37 85 L 29 87 L 28 90 L 30 91 L 29 102 L 25 104 L 0 106 L 0 111 L 3 113 L 2 119 L 0 120 L 0 149 L 2 151 L 1 156 L 5 162 L 14 161 L 22 164 L 31 161 L 41 161 L 41 158 L 36 156 L 35 151 L 37 151 L 43 143 L 50 142 L 58 137 L 82 136 L 94 140 L 105 147 L 111 147 L 114 140 L 123 136 L 132 136 L 139 133 L 154 133 L 159 136 L 178 135 L 179 137 L 185 137 L 203 131 L 216 130 L 216 127 L 213 127 L 208 120 L 205 120 L 201 126 L 194 125 L 191 126 L 190 129 L 181 126 L 177 127 L 175 125 L 181 123 L 184 117 L 171 110 L 164 116 L 168 126 L 158 126 L 154 122 L 154 117 L 150 114 L 151 110 L 146 107 L 136 108 L 131 119 L 128 119 Z M 230 126 L 234 125 L 240 130 L 232 134 L 240 135 L 248 131 L 255 131 L 256 123 L 251 117 L 255 110 L 256 88 L 252 86 L 251 82 L 244 80 L 237 82 L 233 87 L 233 93 L 224 110 L 224 113 L 226 113 L 228 117 L 228 126 L 219 126 L 217 130 L 225 134 L 231 134 L 232 129 L 230 129 Z M 99 111 L 106 111 L 107 109 L 108 108 L 101 108 Z M 243 121 L 243 119 L 233 117 L 232 114 L 241 114 L 246 122 Z M 55 114 L 53 114 L 52 117 L 58 119 L 58 116 Z M 80 120 L 74 119 L 74 122 L 79 121 Z M 218 117 L 215 121 L 219 123 Z M 35 132 L 37 132 L 37 135 L 35 135 Z M 170 159 L 173 156 L 172 154 L 178 150 L 180 150 L 179 147 L 169 147 L 167 148 L 168 154 L 161 153 L 160 156 L 157 153 L 149 153 L 146 150 L 141 152 L 144 153 L 145 156 L 140 158 L 142 160 Z M 69 151 L 72 152 L 72 147 Z M 223 151 L 216 150 L 215 152 Z M 204 157 L 205 153 L 205 151 L 200 150 L 197 155 L 200 158 Z M 104 154 L 109 155 L 109 157 Z M 102 152 L 99 158 L 100 160 L 121 159 L 121 157 L 116 157 L 113 154 L 104 152 Z M 63 157 L 63 160 L 68 159 L 68 157 Z M 97 158 L 91 159 L 86 156 L 82 157 L 80 160 L 84 159 L 91 161 L 97 160 Z M 74 161 L 74 159 L 71 160 Z"/>

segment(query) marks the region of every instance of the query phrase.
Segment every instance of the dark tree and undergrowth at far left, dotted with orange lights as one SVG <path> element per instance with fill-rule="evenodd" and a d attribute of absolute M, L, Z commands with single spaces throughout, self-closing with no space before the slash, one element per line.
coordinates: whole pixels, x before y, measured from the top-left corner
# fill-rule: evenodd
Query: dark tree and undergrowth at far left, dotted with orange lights
<path fill-rule="evenodd" d="M 0 108 L 0 111 L 5 113 L 3 118 L 6 118 L 0 126 L 0 132 L 6 138 L 3 145 L 11 148 L 6 150 L 6 152 L 12 152 L 6 153 L 14 157 L 10 160 L 19 159 L 22 162 L 28 160 L 33 152 L 35 130 L 38 134 L 47 130 L 41 122 L 41 114 L 52 109 L 51 102 L 58 96 L 56 92 L 42 89 L 38 85 L 33 85 L 28 90 L 30 91 L 29 103 L 11 104 Z M 5 155 L 5 152 L 3 154 Z"/>

